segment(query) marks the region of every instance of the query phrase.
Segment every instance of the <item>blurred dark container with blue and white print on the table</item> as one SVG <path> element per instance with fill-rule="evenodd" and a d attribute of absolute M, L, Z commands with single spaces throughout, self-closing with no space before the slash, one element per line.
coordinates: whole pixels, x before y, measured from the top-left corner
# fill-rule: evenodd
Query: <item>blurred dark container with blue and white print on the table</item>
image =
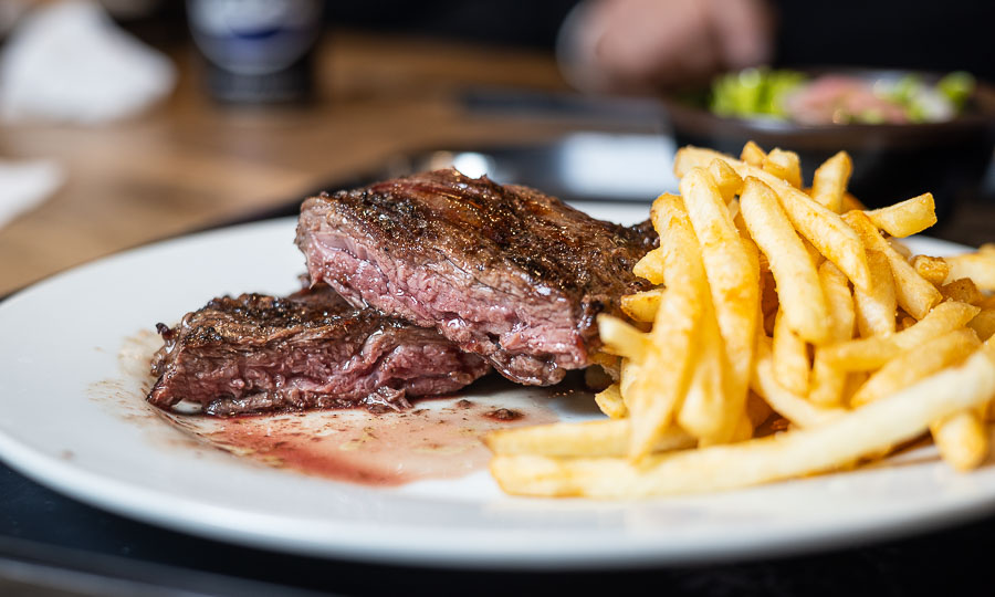
<path fill-rule="evenodd" d="M 211 95 L 224 102 L 300 102 L 314 91 L 320 0 L 188 0 Z"/>

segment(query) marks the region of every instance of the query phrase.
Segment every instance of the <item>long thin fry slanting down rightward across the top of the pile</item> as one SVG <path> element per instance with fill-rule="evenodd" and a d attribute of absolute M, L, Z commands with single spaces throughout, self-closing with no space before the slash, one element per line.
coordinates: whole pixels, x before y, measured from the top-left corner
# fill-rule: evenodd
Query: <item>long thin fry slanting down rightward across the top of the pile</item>
<path fill-rule="evenodd" d="M 853 285 L 870 291 L 870 270 L 863 244 L 840 216 L 814 201 L 810 197 L 763 169 L 729 156 L 701 149 L 683 147 L 674 158 L 674 172 L 678 177 L 700 165 L 706 166 L 713 159 L 722 159 L 744 179 L 748 176 L 760 178 L 771 187 L 781 201 L 782 208 L 792 224 L 805 239 L 815 245 L 826 259 L 836 264 Z"/>

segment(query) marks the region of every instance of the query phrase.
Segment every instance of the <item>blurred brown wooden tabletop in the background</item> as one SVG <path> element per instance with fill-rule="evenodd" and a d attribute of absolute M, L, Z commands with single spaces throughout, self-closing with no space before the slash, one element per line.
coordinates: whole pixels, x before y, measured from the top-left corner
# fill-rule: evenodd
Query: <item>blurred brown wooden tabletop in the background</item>
<path fill-rule="evenodd" d="M 176 92 L 136 119 L 101 127 L 18 125 L 0 158 L 54 158 L 65 185 L 0 228 L 0 295 L 54 272 L 155 239 L 286 202 L 400 150 L 548 139 L 563 118 L 472 116 L 468 86 L 563 91 L 536 51 L 329 32 L 318 100 L 307 106 L 219 105 L 190 48 L 171 52 Z"/>

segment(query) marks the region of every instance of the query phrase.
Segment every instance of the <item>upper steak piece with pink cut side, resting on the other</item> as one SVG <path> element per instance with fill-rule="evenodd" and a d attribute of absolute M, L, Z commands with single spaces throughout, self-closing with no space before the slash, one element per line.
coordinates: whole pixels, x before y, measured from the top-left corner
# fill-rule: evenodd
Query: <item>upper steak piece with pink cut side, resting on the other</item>
<path fill-rule="evenodd" d="M 522 384 L 559 381 L 599 347 L 595 316 L 643 290 L 648 224 L 596 220 L 540 191 L 436 170 L 322 193 L 297 245 L 314 282 L 434 326 Z"/>

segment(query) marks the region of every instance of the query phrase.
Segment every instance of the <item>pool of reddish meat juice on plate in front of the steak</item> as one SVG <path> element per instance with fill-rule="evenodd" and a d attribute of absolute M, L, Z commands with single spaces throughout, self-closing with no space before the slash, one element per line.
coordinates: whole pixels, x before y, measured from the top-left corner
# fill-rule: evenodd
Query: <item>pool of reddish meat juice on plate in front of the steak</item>
<path fill-rule="evenodd" d="M 495 429 L 553 422 L 532 400 L 430 398 L 406 412 L 365 410 L 212 419 L 169 416 L 185 432 L 271 467 L 364 485 L 394 486 L 452 479 L 483 469 L 490 452 L 481 437 Z M 469 402 L 469 405 L 468 405 Z M 511 418 L 498 411 L 514 412 Z"/>

